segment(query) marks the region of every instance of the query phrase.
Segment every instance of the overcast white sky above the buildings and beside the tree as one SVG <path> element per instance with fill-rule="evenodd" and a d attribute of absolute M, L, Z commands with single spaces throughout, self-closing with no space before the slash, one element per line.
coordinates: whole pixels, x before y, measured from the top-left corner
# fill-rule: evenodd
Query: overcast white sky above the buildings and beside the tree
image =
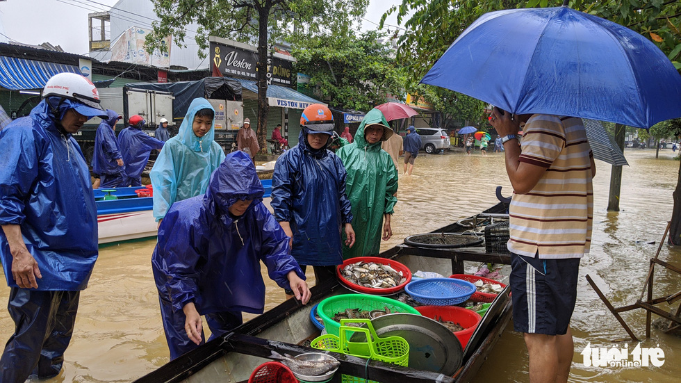
<path fill-rule="evenodd" d="M 0 1 L 0 42 L 7 42 L 8 39 L 33 45 L 49 42 L 60 45 L 67 52 L 85 54 L 88 52 L 88 13 L 108 10 L 116 2 L 117 0 Z M 393 4 L 401 2 L 370 0 L 366 13 L 368 21 L 363 20 L 362 29 L 376 28 L 381 15 Z M 386 24 L 397 24 L 397 18 L 388 18 Z"/>

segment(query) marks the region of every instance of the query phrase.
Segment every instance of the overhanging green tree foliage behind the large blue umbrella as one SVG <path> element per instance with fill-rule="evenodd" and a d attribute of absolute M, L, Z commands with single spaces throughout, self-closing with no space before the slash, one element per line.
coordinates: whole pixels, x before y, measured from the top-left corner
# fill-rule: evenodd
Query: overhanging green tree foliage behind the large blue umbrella
<path fill-rule="evenodd" d="M 402 0 L 383 16 L 381 27 L 388 15 L 396 14 L 397 24 L 407 30 L 401 35 L 399 30 L 395 31 L 397 60 L 408 64 L 409 81 L 418 83 L 461 32 L 484 13 L 509 8 L 555 7 L 562 3 L 561 0 Z M 657 44 L 677 69 L 681 69 L 681 1 L 571 0 L 568 6 L 641 33 Z M 450 105 L 452 100 L 463 99 L 463 95 L 454 93 L 452 97 L 443 94 L 447 92 L 420 91 L 428 101 L 443 111 L 449 110 L 459 120 L 475 115 L 477 110 L 475 107 L 459 111 L 458 107 Z M 466 111 L 470 114 L 463 117 Z"/>

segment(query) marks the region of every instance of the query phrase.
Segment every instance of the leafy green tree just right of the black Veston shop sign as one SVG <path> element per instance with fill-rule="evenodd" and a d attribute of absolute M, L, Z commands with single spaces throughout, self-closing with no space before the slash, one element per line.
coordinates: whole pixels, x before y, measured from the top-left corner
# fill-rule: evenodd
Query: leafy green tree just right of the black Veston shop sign
<path fill-rule="evenodd" d="M 386 95 L 400 95 L 404 79 L 384 35 L 351 31 L 299 38 L 293 49 L 295 70 L 311 76 L 329 105 L 368 111 L 386 102 Z"/>

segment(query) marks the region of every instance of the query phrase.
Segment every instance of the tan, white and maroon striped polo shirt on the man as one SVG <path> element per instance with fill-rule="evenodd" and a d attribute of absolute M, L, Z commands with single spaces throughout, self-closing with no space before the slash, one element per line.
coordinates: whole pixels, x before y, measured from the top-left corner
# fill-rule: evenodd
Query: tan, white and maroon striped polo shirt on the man
<path fill-rule="evenodd" d="M 591 245 L 591 147 L 582 120 L 535 114 L 518 161 L 546 168 L 529 193 L 514 193 L 508 249 L 541 259 L 581 258 Z"/>

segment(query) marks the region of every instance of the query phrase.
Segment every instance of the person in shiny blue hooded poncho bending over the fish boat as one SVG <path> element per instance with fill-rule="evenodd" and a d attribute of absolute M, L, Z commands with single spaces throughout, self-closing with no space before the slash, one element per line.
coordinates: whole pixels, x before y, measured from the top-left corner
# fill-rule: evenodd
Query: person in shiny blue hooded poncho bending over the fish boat
<path fill-rule="evenodd" d="M 205 195 L 175 202 L 161 221 L 151 268 L 171 359 L 204 342 L 200 316 L 215 338 L 240 325 L 242 311 L 263 312 L 261 261 L 274 282 L 309 301 L 305 275 L 264 193 L 251 158 L 234 152 Z"/>

